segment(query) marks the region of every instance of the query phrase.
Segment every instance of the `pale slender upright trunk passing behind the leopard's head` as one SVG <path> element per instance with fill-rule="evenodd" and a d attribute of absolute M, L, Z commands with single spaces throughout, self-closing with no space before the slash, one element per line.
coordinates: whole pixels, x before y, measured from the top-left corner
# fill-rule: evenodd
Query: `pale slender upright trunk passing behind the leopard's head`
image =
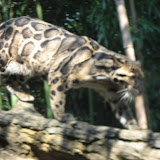
<path fill-rule="evenodd" d="M 131 34 L 129 31 L 129 22 L 127 17 L 127 12 L 125 9 L 124 0 L 115 0 L 117 13 L 119 17 L 119 24 L 122 33 L 123 40 L 123 48 L 125 50 L 126 55 L 133 61 L 136 60 L 135 51 L 133 48 L 133 43 L 131 39 Z M 142 129 L 148 128 L 146 109 L 144 105 L 144 97 L 143 95 L 139 95 L 135 99 L 135 109 L 138 119 L 139 127 Z"/>

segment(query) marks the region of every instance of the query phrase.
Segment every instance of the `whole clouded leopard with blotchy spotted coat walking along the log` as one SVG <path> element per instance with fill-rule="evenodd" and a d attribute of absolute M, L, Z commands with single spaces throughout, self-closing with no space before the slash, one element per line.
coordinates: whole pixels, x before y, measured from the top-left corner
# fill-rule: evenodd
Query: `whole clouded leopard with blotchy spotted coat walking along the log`
<path fill-rule="evenodd" d="M 21 86 L 33 76 L 46 77 L 56 119 L 65 113 L 66 91 L 95 89 L 126 128 L 137 126 L 126 101 L 142 90 L 143 72 L 136 62 L 112 52 L 86 36 L 77 36 L 39 19 L 20 17 L 0 25 L 0 71 L 10 74 L 7 88 L 23 101 L 34 97 Z"/>

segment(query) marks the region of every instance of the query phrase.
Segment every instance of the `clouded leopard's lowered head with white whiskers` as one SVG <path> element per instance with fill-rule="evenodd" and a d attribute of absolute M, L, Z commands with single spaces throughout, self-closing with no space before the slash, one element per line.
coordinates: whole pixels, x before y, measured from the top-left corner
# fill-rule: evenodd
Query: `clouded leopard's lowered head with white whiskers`
<path fill-rule="evenodd" d="M 117 69 L 111 73 L 112 81 L 120 86 L 121 99 L 132 101 L 143 92 L 144 73 L 139 62 L 114 59 Z"/>

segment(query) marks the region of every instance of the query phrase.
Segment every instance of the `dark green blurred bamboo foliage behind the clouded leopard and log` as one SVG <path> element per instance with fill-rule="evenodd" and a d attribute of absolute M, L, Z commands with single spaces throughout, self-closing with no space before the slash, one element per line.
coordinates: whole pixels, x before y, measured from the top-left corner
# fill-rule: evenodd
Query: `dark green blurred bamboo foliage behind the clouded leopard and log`
<path fill-rule="evenodd" d="M 150 123 L 154 131 L 160 131 L 160 1 L 135 1 L 137 31 L 131 18 L 131 4 L 125 1 L 130 20 L 130 30 L 135 49 L 141 50 L 145 72 L 147 100 L 150 107 Z M 10 18 L 38 17 L 64 27 L 77 34 L 86 35 L 100 44 L 123 54 L 116 6 L 113 0 L 0 0 L 0 22 Z M 0 79 L 0 109 L 9 110 L 15 103 Z M 48 86 L 39 79 L 29 81 L 35 96 L 36 109 L 52 118 L 49 108 Z M 88 89 L 71 90 L 67 94 L 68 112 L 79 120 L 98 125 L 119 126 L 110 107 L 99 95 Z"/>

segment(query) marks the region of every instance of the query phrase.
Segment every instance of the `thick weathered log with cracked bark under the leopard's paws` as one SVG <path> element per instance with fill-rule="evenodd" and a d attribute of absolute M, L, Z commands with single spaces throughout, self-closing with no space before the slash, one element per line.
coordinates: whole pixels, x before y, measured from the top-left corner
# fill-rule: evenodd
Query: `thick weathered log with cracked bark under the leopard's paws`
<path fill-rule="evenodd" d="M 160 133 L 60 123 L 30 103 L 0 111 L 0 160 L 159 160 Z"/>

